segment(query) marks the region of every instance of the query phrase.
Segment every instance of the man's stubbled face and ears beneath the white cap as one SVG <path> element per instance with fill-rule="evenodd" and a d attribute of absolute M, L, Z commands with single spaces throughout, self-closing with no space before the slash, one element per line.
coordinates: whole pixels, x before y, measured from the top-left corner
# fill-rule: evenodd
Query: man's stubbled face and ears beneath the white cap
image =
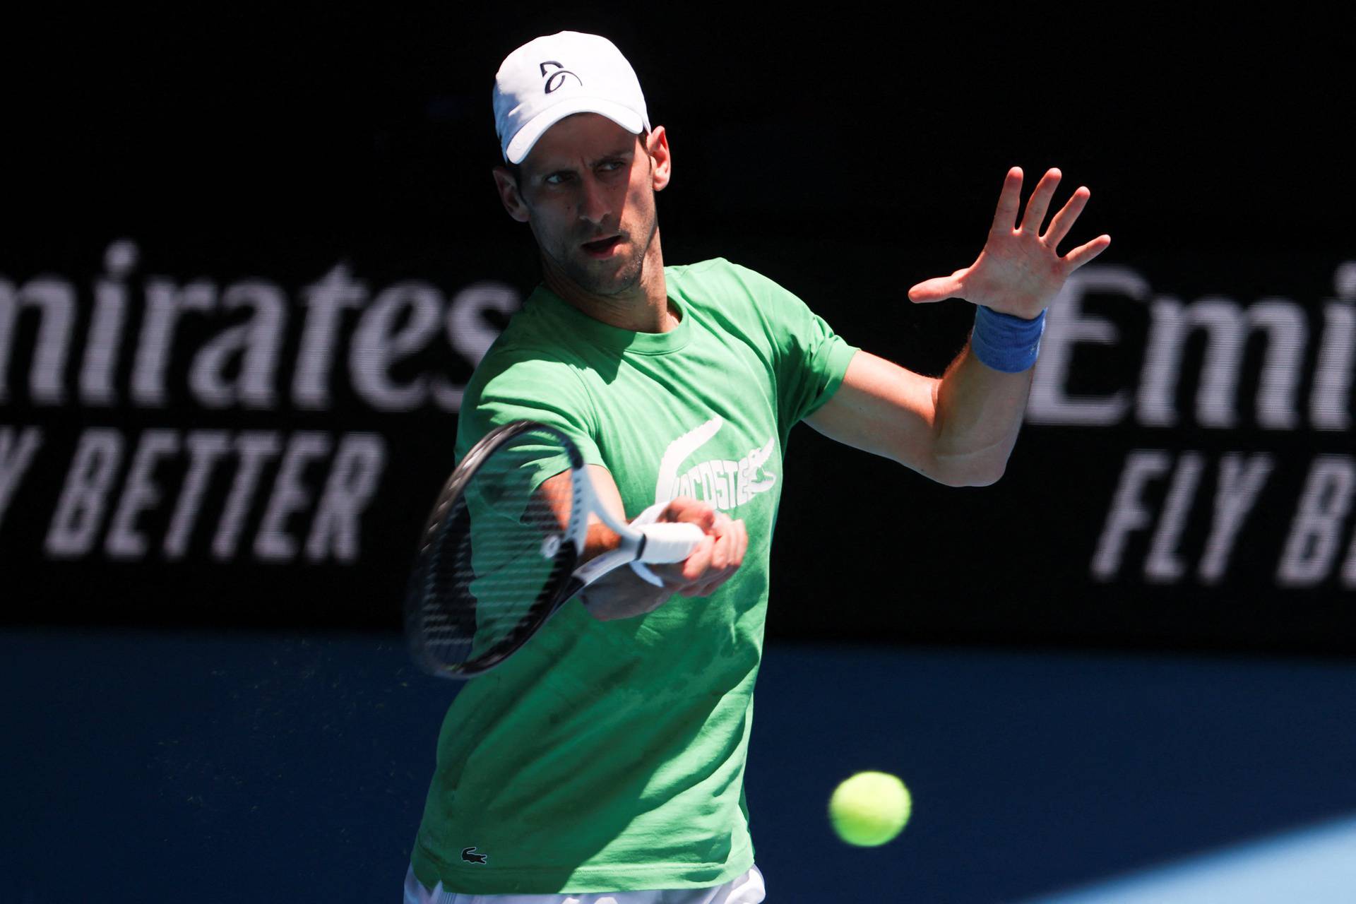
<path fill-rule="evenodd" d="M 656 145 L 663 148 L 651 159 Z M 548 268 L 598 295 L 640 281 L 658 229 L 655 191 L 669 179 L 662 127 L 650 134 L 647 152 L 640 137 L 606 117 L 565 117 L 522 161 L 517 199 L 504 194 L 502 172 L 504 206 L 532 225 Z"/>

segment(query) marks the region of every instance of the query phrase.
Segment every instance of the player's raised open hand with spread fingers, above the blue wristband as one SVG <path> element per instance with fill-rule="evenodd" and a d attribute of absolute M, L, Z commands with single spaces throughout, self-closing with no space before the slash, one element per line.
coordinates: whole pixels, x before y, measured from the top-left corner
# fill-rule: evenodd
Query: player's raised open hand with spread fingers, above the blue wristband
<path fill-rule="evenodd" d="M 1092 194 L 1083 186 L 1079 186 L 1055 214 L 1045 233 L 1040 233 L 1059 178 L 1059 169 L 1050 169 L 1041 176 L 1026 202 L 1021 224 L 1017 224 L 1022 173 L 1020 167 L 1009 169 L 1008 178 L 1003 179 L 1003 190 L 998 195 L 994 225 L 989 229 L 989 240 L 975 263 L 949 276 L 918 283 L 909 290 L 909 300 L 930 302 L 964 298 L 1026 320 L 1040 316 L 1040 312 L 1059 294 L 1069 274 L 1111 244 L 1111 236 L 1097 236 L 1063 258 L 1059 256 L 1059 243 L 1073 229 Z"/>

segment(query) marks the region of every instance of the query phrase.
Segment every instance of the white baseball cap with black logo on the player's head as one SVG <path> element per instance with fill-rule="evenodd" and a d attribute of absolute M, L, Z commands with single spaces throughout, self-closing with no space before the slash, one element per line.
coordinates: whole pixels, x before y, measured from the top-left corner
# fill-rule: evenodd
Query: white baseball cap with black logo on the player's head
<path fill-rule="evenodd" d="M 650 130 L 636 70 L 595 34 L 561 31 L 522 45 L 499 66 L 494 98 L 509 163 L 522 163 L 546 129 L 576 112 L 601 114 L 637 136 Z"/>

